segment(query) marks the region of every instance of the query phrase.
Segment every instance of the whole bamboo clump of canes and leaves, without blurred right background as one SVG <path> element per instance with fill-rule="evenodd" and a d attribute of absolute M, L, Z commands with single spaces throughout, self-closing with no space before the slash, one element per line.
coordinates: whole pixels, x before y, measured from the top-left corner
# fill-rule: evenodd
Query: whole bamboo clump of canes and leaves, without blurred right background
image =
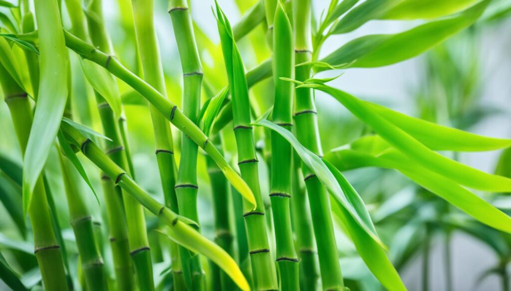
<path fill-rule="evenodd" d="M 395 170 L 471 223 L 511 233 L 511 218 L 475 192 L 511 192 L 508 150 L 496 174 L 444 154 L 511 140 L 402 114 L 321 73 L 414 58 L 508 4 L 331 0 L 319 14 L 312 0 L 237 1 L 235 23 L 223 1 L 104 2 L 0 0 L 2 120 L 22 157 L 0 154 L 2 217 L 19 237 L 8 244 L 12 233 L 0 232 L 0 279 L 11 289 L 365 290 L 343 277 L 347 242 L 378 288 L 406 290 L 379 220 L 344 176 L 367 167 Z M 206 4 L 211 14 L 192 11 Z M 321 51 L 371 20 L 420 21 Z M 322 135 L 343 135 L 320 132 L 324 95 L 364 128 L 340 147 L 322 145 Z"/>

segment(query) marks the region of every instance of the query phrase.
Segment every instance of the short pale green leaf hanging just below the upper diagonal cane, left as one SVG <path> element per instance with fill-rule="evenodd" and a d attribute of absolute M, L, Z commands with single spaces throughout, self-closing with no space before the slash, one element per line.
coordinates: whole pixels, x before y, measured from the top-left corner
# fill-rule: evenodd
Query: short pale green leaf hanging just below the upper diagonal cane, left
<path fill-rule="evenodd" d="M 87 59 L 80 59 L 80 64 L 92 88 L 105 98 L 116 116 L 121 116 L 121 95 L 112 75 L 102 66 Z"/>

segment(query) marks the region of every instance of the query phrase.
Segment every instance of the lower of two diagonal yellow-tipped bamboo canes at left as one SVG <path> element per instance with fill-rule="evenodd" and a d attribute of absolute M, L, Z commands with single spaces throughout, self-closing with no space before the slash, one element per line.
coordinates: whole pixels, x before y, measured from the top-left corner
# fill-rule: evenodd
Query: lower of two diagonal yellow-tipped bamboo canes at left
<path fill-rule="evenodd" d="M 115 180 L 115 184 L 119 185 L 126 193 L 144 205 L 144 207 L 157 216 L 158 219 L 167 224 L 167 226 L 169 226 L 169 236 L 171 239 L 193 252 L 201 253 L 210 258 L 227 272 L 242 290 L 250 289 L 234 259 L 222 248 L 205 239 L 205 237 L 192 228 L 189 225 L 193 223 L 190 219 L 178 216 L 168 207 L 152 198 L 151 195 L 142 190 L 140 186 L 133 181 L 124 169 L 115 164 L 94 142 L 81 134 L 80 131 L 73 126 L 62 123 L 61 129 L 64 131 L 67 140 L 76 148 L 80 148 L 82 153 L 89 158 L 92 163 L 102 169 L 111 180 Z"/>

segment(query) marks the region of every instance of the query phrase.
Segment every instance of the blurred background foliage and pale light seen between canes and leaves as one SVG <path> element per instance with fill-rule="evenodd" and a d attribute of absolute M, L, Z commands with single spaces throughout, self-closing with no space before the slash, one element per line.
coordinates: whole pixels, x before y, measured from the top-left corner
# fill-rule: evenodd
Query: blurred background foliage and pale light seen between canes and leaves
<path fill-rule="evenodd" d="M 225 7 L 226 14 L 231 18 L 232 23 L 236 23 L 240 15 L 252 7 L 257 0 L 236 0 L 221 1 L 221 5 Z M 203 101 L 211 98 L 226 84 L 226 74 L 224 71 L 222 52 L 220 48 L 219 38 L 216 29 L 211 28 L 214 25 L 212 13 L 207 13 L 213 3 L 192 1 L 192 15 L 197 21 L 194 23 L 195 35 L 200 48 L 199 54 L 203 63 L 205 90 L 203 90 Z M 141 71 L 141 65 L 136 61 L 136 45 L 134 28 L 131 15 L 131 5 L 129 0 L 108 0 L 104 1 L 106 9 L 104 10 L 107 20 L 108 31 L 112 37 L 113 46 L 118 59 L 134 72 Z M 328 7 L 327 1 L 314 1 L 315 14 L 319 17 L 322 9 Z M 4 9 L 4 8 L 2 8 Z M 172 35 L 171 22 L 167 14 L 167 2 L 155 2 L 155 20 L 160 42 L 160 50 L 162 54 L 162 63 L 165 72 L 165 81 L 168 96 L 173 102 L 180 107 L 181 102 L 181 66 L 179 65 L 179 56 L 177 46 Z M 198 16 L 206 19 L 201 19 Z M 205 16 L 204 16 L 205 15 Z M 511 33 L 511 5 L 508 0 L 495 1 L 492 6 L 485 12 L 483 17 L 468 30 L 463 31 L 457 36 L 449 39 L 445 43 L 436 46 L 426 54 L 406 63 L 413 65 L 394 65 L 398 70 L 414 70 L 413 72 L 405 71 L 396 74 L 396 77 L 403 77 L 406 74 L 416 76 L 416 84 L 407 84 L 404 81 L 398 82 L 399 90 L 405 90 L 408 93 L 406 102 L 394 98 L 391 95 L 367 95 L 361 96 L 365 99 L 373 100 L 384 104 L 390 108 L 411 113 L 415 117 L 420 117 L 432 122 L 443 125 L 453 126 L 463 130 L 473 131 L 474 128 L 481 124 L 486 126 L 502 126 L 508 132 L 492 131 L 501 134 L 501 137 L 509 138 L 509 125 L 490 123 L 488 120 L 494 120 L 495 116 L 501 116 L 499 120 L 505 120 L 511 124 L 509 116 L 511 112 L 509 106 L 499 107 L 492 102 L 487 102 L 484 92 L 487 86 L 492 86 L 491 79 L 495 73 L 499 73 L 499 66 L 509 65 L 509 59 L 487 60 L 482 55 L 482 45 L 484 41 L 489 41 L 485 34 L 492 31 L 502 33 L 503 42 L 499 45 L 504 51 L 511 51 L 511 41 L 509 35 Z M 400 25 L 399 21 L 395 25 Z M 64 15 L 64 27 L 70 27 L 68 17 Z M 266 22 L 263 21 L 260 27 L 253 30 L 248 37 L 239 42 L 243 60 L 248 69 L 261 63 L 270 56 L 270 50 L 266 44 Z M 496 36 L 493 34 L 494 38 Z M 491 41 L 492 39 L 490 39 Z M 492 46 L 492 43 L 486 44 Z M 329 49 L 328 43 L 324 45 L 325 50 Z M 13 49 L 19 49 L 13 47 Z M 93 97 L 92 89 L 80 73 L 80 64 L 78 57 L 71 54 L 72 57 L 72 73 L 77 76 L 73 79 L 73 96 L 74 106 L 79 109 L 77 121 L 81 124 L 90 126 L 101 132 L 101 124 L 97 110 L 92 110 L 96 104 Z M 491 61 L 491 62 L 490 62 Z M 507 63 L 506 63 L 507 62 Z M 488 67 L 490 69 L 487 69 Z M 363 71 L 363 70 L 362 70 Z M 380 70 L 379 72 L 385 72 Z M 506 71 L 509 73 L 509 69 Z M 350 72 L 346 72 L 350 74 Z M 392 71 L 390 71 L 392 73 Z M 321 74 L 322 75 L 322 74 Z M 361 76 L 363 74 L 357 74 Z M 507 75 L 507 79 L 509 80 Z M 28 76 L 25 76 L 28 77 Z M 344 76 L 341 76 L 339 82 L 334 87 L 343 88 Z M 156 164 L 156 156 L 154 155 L 154 137 L 150 120 L 148 107 L 145 106 L 146 101 L 131 88 L 121 81 L 118 82 L 122 93 L 122 100 L 125 104 L 125 114 L 128 120 L 128 131 L 130 143 L 132 146 L 133 163 L 136 170 L 135 176 L 140 185 L 153 194 L 156 199 L 162 201 L 162 190 L 159 183 L 158 168 Z M 359 80 L 356 85 L 364 84 L 372 90 L 367 92 L 378 92 L 376 85 Z M 253 87 L 250 91 L 253 98 L 253 116 L 260 116 L 271 105 L 272 99 L 272 82 L 271 79 L 261 82 Z M 493 85 L 495 86 L 495 85 Z M 507 84 L 505 94 L 511 95 L 511 86 Z M 386 89 L 389 92 L 392 89 Z M 347 110 L 343 109 L 337 102 L 333 102 L 328 97 L 316 98 L 319 117 L 319 130 L 323 150 L 329 150 L 347 144 L 363 134 L 370 132 L 362 122 L 351 115 Z M 509 102 L 509 99 L 506 101 Z M 14 134 L 13 125 L 8 113 L 7 105 L 0 103 L 0 158 L 2 163 L 8 160 L 21 164 L 21 155 Z M 486 127 L 485 127 L 486 128 Z M 480 130 L 480 129 L 479 129 Z M 180 133 L 173 128 L 174 145 L 176 146 L 176 161 L 179 161 L 179 139 Z M 491 135 L 491 134 L 490 134 Z M 268 133 L 265 129 L 257 127 L 256 139 L 260 145 L 268 142 L 266 138 Z M 232 157 L 236 152 L 236 143 L 232 131 L 225 130 L 223 132 L 223 140 L 226 151 L 226 157 Z M 261 148 L 263 148 L 261 146 Z M 55 201 L 65 199 L 63 184 L 61 180 L 60 167 L 58 165 L 58 157 L 56 148 L 54 148 L 48 159 L 45 173 L 48 177 L 48 183 L 52 189 Z M 268 161 L 269 152 L 259 152 L 262 158 Z M 449 153 L 448 153 L 449 154 Z M 466 154 L 454 155 L 451 157 L 462 162 L 467 157 Z M 500 158 L 499 167 L 497 167 Z M 470 159 L 469 159 L 470 160 Z M 81 159 L 81 162 L 88 172 L 91 182 L 95 189 L 99 187 L 99 175 L 97 168 L 89 161 Z M 509 150 L 499 152 L 498 155 L 492 155 L 491 161 L 486 164 L 495 166 L 498 173 L 511 176 L 511 152 Z M 478 165 L 475 164 L 477 167 Z M 15 166 L 14 166 L 15 167 Z M 260 163 L 261 185 L 263 197 L 266 204 L 268 199 L 269 174 L 266 163 Z M 211 209 L 211 189 L 210 182 L 206 172 L 205 158 L 199 154 L 198 158 L 198 183 L 199 183 L 199 215 L 201 221 L 202 233 L 213 239 L 213 217 Z M 467 240 L 478 241 L 480 248 L 486 248 L 491 251 L 495 259 L 490 259 L 493 266 L 475 273 L 475 270 L 468 270 L 464 276 L 470 278 L 474 289 L 484 290 L 481 286 L 493 286 L 497 289 L 509 290 L 508 273 L 506 272 L 509 259 L 511 259 L 511 235 L 499 232 L 490 227 L 484 226 L 467 215 L 460 214 L 460 211 L 454 209 L 444 200 L 429 193 L 428 191 L 416 186 L 396 171 L 386 169 L 358 169 L 346 173 L 347 178 L 362 196 L 364 202 L 368 205 L 371 217 L 376 224 L 378 233 L 382 240 L 389 246 L 389 257 L 394 266 L 402 274 L 405 283 L 408 285 L 409 280 L 416 282 L 410 283 L 410 290 L 461 290 L 457 280 L 453 277 L 453 266 L 456 264 L 457 256 L 453 255 L 453 249 L 459 248 Z M 17 195 L 21 191 L 16 183 L 12 182 L 13 177 L 9 177 L 6 173 L 0 172 L 0 196 L 3 197 L 0 203 L 0 249 L 2 250 L 0 259 L 9 261 L 10 266 L 18 273 L 24 274 L 22 282 L 27 286 L 33 286 L 40 279 L 40 274 L 36 268 L 36 260 L 33 256 L 33 247 L 30 243 L 30 237 L 23 237 L 17 231 L 16 214 L 12 214 L 9 205 L 9 199 Z M 85 191 L 90 192 L 87 187 L 83 187 Z M 500 209 L 511 214 L 511 200 L 500 194 L 492 194 L 491 197 L 485 198 L 493 202 Z M 99 195 L 100 203 L 103 203 L 102 195 Z M 89 206 L 93 210 L 98 220 L 105 220 L 105 214 L 101 213 L 101 207 L 98 207 L 94 196 L 90 192 Z M 65 203 L 55 203 L 56 214 L 60 227 L 63 229 L 63 239 L 68 253 L 72 253 L 69 257 L 72 271 L 78 268 L 77 250 L 74 242 L 74 234 L 69 225 L 68 210 Z M 7 214 L 11 215 L 7 215 Z M 268 211 L 269 213 L 269 211 Z M 17 214 L 18 217 L 21 214 Z M 268 216 L 269 217 L 269 216 Z M 103 218 L 103 219 L 101 219 Z M 149 229 L 157 227 L 157 221 L 153 216 L 148 216 Z M 271 229 L 271 222 L 268 222 Z M 25 227 L 25 226 L 24 226 Z M 29 226 L 27 226 L 29 227 Z M 27 232 L 27 235 L 31 231 Z M 149 232 L 150 240 L 165 240 L 156 232 Z M 453 240 L 458 233 L 464 233 L 463 240 Z M 349 239 L 343 234 L 342 229 L 337 224 L 336 234 L 338 237 L 338 248 L 341 256 L 341 268 L 343 275 L 347 280 L 347 285 L 352 291 L 356 290 L 379 290 L 380 283 L 370 274 L 365 264 L 358 256 L 355 247 Z M 274 244 L 274 242 L 272 242 Z M 438 250 L 443 253 L 442 261 L 435 262 L 433 265 L 430 258 L 431 252 Z M 105 250 L 108 250 L 106 247 Z M 170 282 L 164 275 L 166 263 L 169 258 L 168 253 L 153 251 L 153 260 L 160 262 L 155 265 L 155 276 L 158 276 L 156 282 L 164 286 Z M 108 254 L 107 254 L 108 255 Z M 469 255 L 469 254 L 467 254 Z M 108 262 L 109 260 L 105 260 Z M 207 268 L 207 263 L 203 266 Z M 430 272 L 432 266 L 445 270 L 445 277 L 442 282 L 438 283 L 435 274 Z M 470 267 L 470 266 L 469 266 Z M 107 268 L 112 268 L 108 266 Z M 480 269 L 480 268 L 479 268 Z M 479 270 L 478 269 L 478 270 Z M 456 277 L 461 279 L 460 277 Z M 484 285 L 485 280 L 492 278 L 493 283 Z M 418 280 L 417 280 L 418 279 Z M 75 284 L 78 286 L 78 284 Z M 0 282 L 0 289 L 4 288 Z M 487 290 L 487 289 L 485 289 Z"/>

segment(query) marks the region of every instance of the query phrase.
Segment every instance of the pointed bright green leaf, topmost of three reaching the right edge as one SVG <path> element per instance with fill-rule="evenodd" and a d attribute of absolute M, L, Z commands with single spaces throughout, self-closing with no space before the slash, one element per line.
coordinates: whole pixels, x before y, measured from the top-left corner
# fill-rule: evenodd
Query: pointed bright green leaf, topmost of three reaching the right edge
<path fill-rule="evenodd" d="M 400 127 L 417 141 L 433 150 L 486 151 L 511 146 L 511 140 L 509 139 L 479 136 L 467 131 L 413 118 L 368 101 L 366 101 L 366 104 L 373 107 L 381 117 Z"/>

